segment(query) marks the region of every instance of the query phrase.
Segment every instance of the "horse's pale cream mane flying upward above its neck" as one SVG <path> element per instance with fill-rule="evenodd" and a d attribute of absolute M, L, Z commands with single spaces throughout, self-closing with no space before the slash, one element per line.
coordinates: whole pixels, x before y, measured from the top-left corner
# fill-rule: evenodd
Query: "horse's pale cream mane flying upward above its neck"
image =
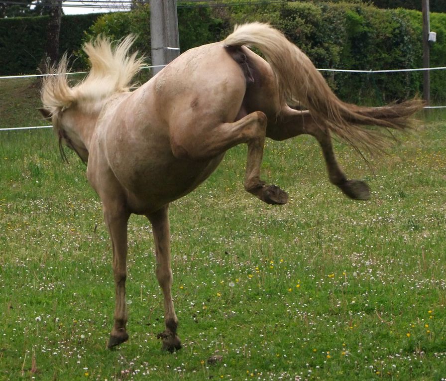
<path fill-rule="evenodd" d="M 65 53 L 58 65 L 50 68 L 52 74 L 45 77 L 41 99 L 43 107 L 51 115 L 77 104 L 88 107 L 108 98 L 112 94 L 128 91 L 131 79 L 144 67 L 144 57 L 136 58 L 136 53 L 128 54 L 135 36 L 129 35 L 117 44 L 108 37 L 98 36 L 84 45 L 91 62 L 87 77 L 70 87 L 67 79 L 68 60 Z"/>

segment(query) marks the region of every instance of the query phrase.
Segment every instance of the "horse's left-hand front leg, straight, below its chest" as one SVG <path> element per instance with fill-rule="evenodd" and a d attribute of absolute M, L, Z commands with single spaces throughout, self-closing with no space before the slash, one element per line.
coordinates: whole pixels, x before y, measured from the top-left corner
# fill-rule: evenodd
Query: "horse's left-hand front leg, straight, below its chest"
<path fill-rule="evenodd" d="M 116 203 L 104 203 L 104 219 L 109 229 L 113 250 L 113 276 L 115 286 L 114 324 L 108 348 L 128 340 L 125 329 L 127 309 L 125 280 L 127 278 L 127 222 L 130 214 Z"/>

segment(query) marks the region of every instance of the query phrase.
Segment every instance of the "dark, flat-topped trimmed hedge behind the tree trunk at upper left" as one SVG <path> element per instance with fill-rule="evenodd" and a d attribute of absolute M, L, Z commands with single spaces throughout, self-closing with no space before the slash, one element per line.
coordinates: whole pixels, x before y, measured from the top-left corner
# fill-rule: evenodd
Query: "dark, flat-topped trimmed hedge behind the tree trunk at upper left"
<path fill-rule="evenodd" d="M 83 43 L 84 31 L 101 14 L 64 15 L 59 50 L 69 54 Z M 35 74 L 45 48 L 48 16 L 0 19 L 0 75 Z M 74 68 L 80 68 L 74 62 Z"/>

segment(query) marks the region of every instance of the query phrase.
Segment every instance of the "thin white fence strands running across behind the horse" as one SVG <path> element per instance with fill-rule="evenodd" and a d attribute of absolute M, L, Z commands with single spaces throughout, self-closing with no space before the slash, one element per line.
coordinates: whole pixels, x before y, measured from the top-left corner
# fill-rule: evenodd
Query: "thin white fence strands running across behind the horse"
<path fill-rule="evenodd" d="M 154 65 L 147 66 L 147 69 L 155 67 L 164 67 L 166 65 Z M 349 69 L 318 69 L 325 72 L 339 72 L 339 73 L 358 73 L 358 74 L 378 74 L 378 73 L 398 73 L 398 72 L 416 72 L 425 70 L 446 70 L 446 66 L 432 67 L 432 68 L 417 68 L 417 69 L 393 69 L 393 70 L 349 70 Z M 74 74 L 87 74 L 88 72 L 75 72 L 67 73 L 68 75 Z M 56 74 L 57 75 L 57 74 Z M 32 74 L 32 75 L 13 75 L 13 76 L 0 76 L 0 80 L 15 79 L 15 78 L 37 78 L 45 77 L 48 74 Z M 446 86 L 446 84 L 445 84 Z M 446 109 L 446 106 L 426 106 L 425 109 Z M 25 130 L 25 129 L 38 129 L 38 128 L 51 128 L 53 126 L 33 126 L 33 127 L 10 127 L 0 128 L 0 131 L 12 131 L 12 130 Z"/>

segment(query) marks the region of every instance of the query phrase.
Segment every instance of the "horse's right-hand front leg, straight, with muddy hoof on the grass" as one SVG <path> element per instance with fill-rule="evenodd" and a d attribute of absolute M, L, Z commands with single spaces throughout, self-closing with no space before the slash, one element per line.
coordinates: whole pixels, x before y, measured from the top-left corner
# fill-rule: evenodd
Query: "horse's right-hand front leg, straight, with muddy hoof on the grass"
<path fill-rule="evenodd" d="M 164 323 L 166 329 L 158 334 L 163 341 L 163 350 L 174 352 L 181 348 L 180 338 L 177 336 L 178 319 L 172 301 L 172 269 L 170 267 L 170 228 L 168 206 L 148 214 L 152 224 L 155 239 L 156 278 L 163 292 Z"/>

